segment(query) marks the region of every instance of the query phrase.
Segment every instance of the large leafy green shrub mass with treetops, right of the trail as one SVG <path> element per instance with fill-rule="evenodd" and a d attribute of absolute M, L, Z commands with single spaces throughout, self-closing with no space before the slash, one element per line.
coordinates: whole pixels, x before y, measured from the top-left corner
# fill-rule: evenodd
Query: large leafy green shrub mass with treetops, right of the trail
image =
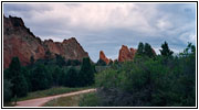
<path fill-rule="evenodd" d="M 114 64 L 95 77 L 96 94 L 82 98 L 80 106 L 195 107 L 196 48 L 172 55 L 165 42 L 161 55 L 139 43 L 133 62 Z"/>

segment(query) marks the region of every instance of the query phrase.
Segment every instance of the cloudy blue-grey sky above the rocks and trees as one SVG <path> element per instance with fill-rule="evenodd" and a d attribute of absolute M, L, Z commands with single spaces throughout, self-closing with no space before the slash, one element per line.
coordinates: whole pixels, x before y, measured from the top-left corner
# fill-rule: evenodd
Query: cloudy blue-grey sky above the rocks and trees
<path fill-rule="evenodd" d="M 157 54 L 165 41 L 175 53 L 196 45 L 196 3 L 3 3 L 3 14 L 22 18 L 41 40 L 75 37 L 94 62 L 100 51 L 115 59 L 139 42 Z"/>

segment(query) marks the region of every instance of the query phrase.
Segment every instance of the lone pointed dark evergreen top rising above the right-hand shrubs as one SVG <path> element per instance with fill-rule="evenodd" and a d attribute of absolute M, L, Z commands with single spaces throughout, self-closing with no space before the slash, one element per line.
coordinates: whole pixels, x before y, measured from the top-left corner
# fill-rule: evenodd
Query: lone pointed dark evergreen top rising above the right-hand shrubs
<path fill-rule="evenodd" d="M 160 51 L 160 53 L 161 53 L 163 56 L 171 56 L 172 53 L 174 53 L 172 51 L 169 50 L 167 42 L 165 42 L 164 44 L 161 44 L 161 48 L 163 48 L 163 50 L 159 50 L 159 51 Z"/>

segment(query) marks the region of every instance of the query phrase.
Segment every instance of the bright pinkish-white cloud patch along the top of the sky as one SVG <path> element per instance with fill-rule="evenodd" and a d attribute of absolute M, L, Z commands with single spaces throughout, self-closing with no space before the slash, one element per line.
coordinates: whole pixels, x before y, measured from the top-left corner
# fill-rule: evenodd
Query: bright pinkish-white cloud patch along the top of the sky
<path fill-rule="evenodd" d="M 42 4 L 27 4 L 31 8 L 39 8 Z M 136 3 L 82 3 L 71 4 L 46 3 L 48 11 L 31 10 L 33 14 L 30 20 L 42 23 L 45 21 L 65 21 L 62 24 L 84 30 L 102 31 L 112 28 L 123 28 L 136 31 L 148 32 L 153 28 L 148 19 L 151 19 L 155 6 L 144 10 Z M 10 11 L 23 16 L 24 12 Z M 150 18 L 149 18 L 150 16 Z"/>

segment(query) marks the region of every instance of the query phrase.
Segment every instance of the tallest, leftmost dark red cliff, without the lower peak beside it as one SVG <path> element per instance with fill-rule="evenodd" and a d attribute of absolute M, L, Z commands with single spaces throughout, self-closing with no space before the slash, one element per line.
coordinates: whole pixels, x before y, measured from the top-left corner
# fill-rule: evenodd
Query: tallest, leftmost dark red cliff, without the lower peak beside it
<path fill-rule="evenodd" d="M 12 57 L 18 56 L 22 65 L 44 57 L 44 47 L 20 18 L 3 16 L 3 67 L 8 67 Z"/>

